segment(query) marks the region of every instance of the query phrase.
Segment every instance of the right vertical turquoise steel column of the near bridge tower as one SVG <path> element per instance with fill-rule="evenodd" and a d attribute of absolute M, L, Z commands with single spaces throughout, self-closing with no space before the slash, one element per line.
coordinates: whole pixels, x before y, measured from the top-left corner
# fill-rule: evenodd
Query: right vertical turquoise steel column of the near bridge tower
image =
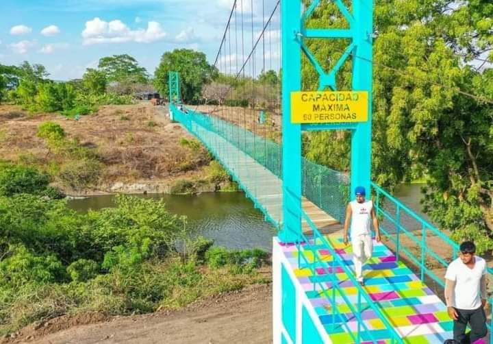
<path fill-rule="evenodd" d="M 370 197 L 372 125 L 372 0 L 353 1 L 353 90 L 368 92 L 368 121 L 358 123 L 351 135 L 351 199 L 356 186 Z"/>

